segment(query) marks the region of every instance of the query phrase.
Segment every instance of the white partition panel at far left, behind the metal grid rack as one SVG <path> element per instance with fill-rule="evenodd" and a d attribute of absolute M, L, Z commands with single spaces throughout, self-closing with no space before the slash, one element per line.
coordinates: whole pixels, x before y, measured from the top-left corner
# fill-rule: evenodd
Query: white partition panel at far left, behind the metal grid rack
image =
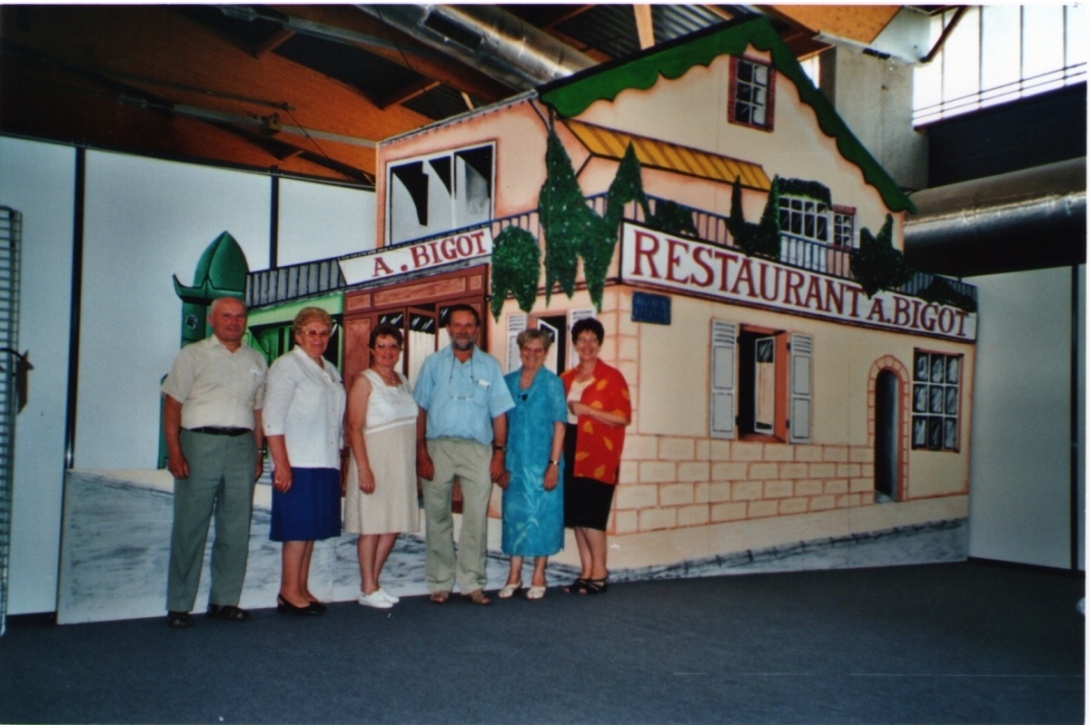
<path fill-rule="evenodd" d="M 19 342 L 28 352 L 26 408 L 15 422 L 8 613 L 57 604 L 64 493 L 75 150 L 0 136 L 0 204 L 23 215 Z"/>

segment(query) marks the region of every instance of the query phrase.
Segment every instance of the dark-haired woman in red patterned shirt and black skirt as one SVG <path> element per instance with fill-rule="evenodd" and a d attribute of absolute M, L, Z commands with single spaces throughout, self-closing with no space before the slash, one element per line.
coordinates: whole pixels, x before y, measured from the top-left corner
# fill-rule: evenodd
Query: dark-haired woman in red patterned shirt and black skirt
<path fill-rule="evenodd" d="M 568 399 L 565 433 L 564 524 L 579 546 L 582 570 L 566 591 L 592 595 L 606 590 L 606 524 L 632 421 L 625 376 L 598 359 L 605 328 L 594 318 L 571 327 L 579 365 L 560 375 Z"/>

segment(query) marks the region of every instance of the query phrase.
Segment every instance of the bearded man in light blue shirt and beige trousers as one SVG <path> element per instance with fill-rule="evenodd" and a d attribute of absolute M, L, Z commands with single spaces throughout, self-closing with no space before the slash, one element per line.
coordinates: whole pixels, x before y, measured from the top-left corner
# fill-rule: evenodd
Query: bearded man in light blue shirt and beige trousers
<path fill-rule="evenodd" d="M 487 606 L 485 562 L 492 483 L 504 475 L 507 414 L 514 408 L 495 358 L 476 348 L 481 316 L 450 307 L 450 346 L 424 360 L 414 396 L 416 471 L 427 523 L 425 578 L 432 603 L 445 604 L 455 581 L 470 602 Z M 451 513 L 455 477 L 462 490 L 462 529 L 455 556 Z"/>

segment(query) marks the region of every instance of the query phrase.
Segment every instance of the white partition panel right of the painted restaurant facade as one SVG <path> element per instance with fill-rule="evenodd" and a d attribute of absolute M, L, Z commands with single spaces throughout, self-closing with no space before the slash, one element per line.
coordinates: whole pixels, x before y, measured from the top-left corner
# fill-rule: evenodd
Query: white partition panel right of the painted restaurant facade
<path fill-rule="evenodd" d="M 972 400 L 969 555 L 1071 567 L 1071 271 L 983 276 Z M 1082 308 L 1079 308 L 1080 314 Z M 1079 335 L 1081 340 L 1081 335 Z M 1077 381 L 1085 376 L 1085 360 Z M 1081 388 L 1080 388 L 1081 390 Z M 1083 440 L 1082 427 L 1076 437 Z M 1082 518 L 1080 517 L 1080 521 Z M 1078 537 L 1081 566 L 1083 547 Z"/>

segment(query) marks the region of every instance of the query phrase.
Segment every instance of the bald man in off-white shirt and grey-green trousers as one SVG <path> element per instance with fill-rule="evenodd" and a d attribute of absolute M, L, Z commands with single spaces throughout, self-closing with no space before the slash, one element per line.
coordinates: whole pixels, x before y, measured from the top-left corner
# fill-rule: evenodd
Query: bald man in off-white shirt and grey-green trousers
<path fill-rule="evenodd" d="M 242 343 L 246 307 L 213 301 L 213 335 L 179 352 L 162 383 L 167 468 L 174 475 L 174 521 L 167 575 L 167 622 L 189 627 L 201 582 L 208 524 L 216 518 L 208 615 L 242 621 L 254 483 L 262 473 L 265 359 Z"/>

